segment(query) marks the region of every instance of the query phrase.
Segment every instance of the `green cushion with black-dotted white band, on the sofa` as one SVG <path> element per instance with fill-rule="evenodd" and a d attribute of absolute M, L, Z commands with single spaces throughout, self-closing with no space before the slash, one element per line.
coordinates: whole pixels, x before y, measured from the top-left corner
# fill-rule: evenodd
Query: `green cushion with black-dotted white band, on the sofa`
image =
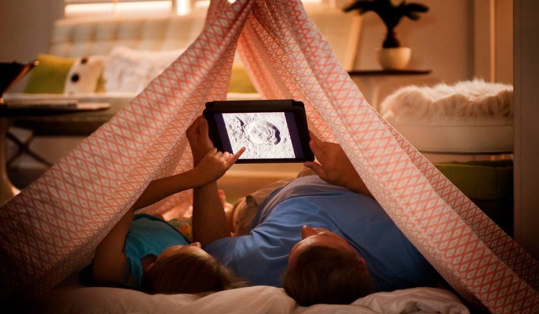
<path fill-rule="evenodd" d="M 64 58 L 41 53 L 30 71 L 24 93 L 93 93 L 103 69 L 103 57 Z"/>

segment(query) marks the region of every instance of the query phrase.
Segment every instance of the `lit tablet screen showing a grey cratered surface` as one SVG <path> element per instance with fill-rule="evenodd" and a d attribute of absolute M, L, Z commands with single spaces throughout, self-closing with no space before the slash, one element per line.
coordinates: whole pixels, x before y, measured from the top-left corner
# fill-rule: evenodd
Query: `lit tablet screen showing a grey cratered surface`
<path fill-rule="evenodd" d="M 241 159 L 304 158 L 293 112 L 214 113 L 224 151 L 246 148 Z"/>

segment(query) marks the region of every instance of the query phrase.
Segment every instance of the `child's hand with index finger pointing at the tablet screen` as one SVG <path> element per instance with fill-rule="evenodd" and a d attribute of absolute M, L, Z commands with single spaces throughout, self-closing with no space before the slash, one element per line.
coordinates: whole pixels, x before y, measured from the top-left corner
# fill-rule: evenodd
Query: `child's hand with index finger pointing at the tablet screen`
<path fill-rule="evenodd" d="M 203 181 L 202 184 L 216 181 L 226 173 L 226 170 L 234 165 L 243 152 L 245 152 L 245 147 L 241 147 L 234 155 L 228 152 L 219 152 L 217 148 L 213 147 L 204 155 L 194 171 L 198 178 Z"/>

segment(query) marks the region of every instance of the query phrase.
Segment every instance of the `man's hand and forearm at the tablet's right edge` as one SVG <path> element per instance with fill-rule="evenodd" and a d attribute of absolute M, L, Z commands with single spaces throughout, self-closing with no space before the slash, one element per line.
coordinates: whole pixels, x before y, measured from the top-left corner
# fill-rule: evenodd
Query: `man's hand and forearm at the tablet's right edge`
<path fill-rule="evenodd" d="M 320 164 L 306 161 L 303 165 L 312 169 L 320 179 L 332 185 L 342 186 L 372 197 L 342 147 L 336 143 L 323 142 L 310 131 L 309 134 L 309 147 Z"/>

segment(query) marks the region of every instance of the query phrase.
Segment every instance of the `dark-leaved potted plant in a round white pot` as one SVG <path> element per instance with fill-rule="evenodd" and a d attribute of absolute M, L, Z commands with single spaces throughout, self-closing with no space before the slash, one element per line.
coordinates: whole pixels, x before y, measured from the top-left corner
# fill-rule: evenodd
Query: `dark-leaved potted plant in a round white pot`
<path fill-rule="evenodd" d="M 378 52 L 378 62 L 384 69 L 404 69 L 410 62 L 412 51 L 409 47 L 400 46 L 395 28 L 404 16 L 416 21 L 419 19 L 419 12 L 429 11 L 429 7 L 420 3 L 406 3 L 404 0 L 399 5 L 394 5 L 391 0 L 356 0 L 344 8 L 345 12 L 352 10 L 357 10 L 360 14 L 374 11 L 382 19 L 388 32 L 382 50 Z"/>

